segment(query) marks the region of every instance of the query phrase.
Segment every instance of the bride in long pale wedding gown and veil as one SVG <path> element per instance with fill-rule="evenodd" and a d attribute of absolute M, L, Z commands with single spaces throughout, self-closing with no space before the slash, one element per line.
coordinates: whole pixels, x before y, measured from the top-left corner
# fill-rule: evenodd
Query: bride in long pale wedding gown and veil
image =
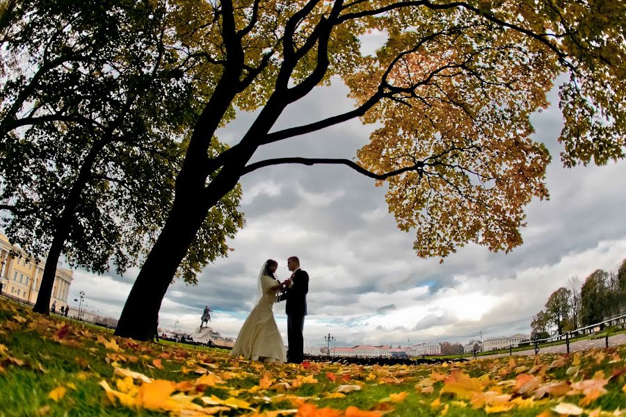
<path fill-rule="evenodd" d="M 274 320 L 272 306 L 282 284 L 275 279 L 278 262 L 268 259 L 259 272 L 259 297 L 257 305 L 246 318 L 230 356 L 242 356 L 253 361 L 284 362 L 287 356 L 282 337 Z"/>

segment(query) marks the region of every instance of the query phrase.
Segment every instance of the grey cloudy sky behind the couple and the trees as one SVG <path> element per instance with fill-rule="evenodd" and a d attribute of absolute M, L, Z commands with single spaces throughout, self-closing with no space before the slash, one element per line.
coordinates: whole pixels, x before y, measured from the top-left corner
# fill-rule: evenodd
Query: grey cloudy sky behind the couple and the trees
<path fill-rule="evenodd" d="M 372 39 L 371 42 L 376 42 Z M 368 43 L 365 43 L 365 47 Z M 370 44 L 371 47 L 371 44 Z M 291 106 L 277 129 L 353 108 L 337 80 Z M 552 101 L 556 103 L 556 92 Z M 242 113 L 220 131 L 238 142 L 254 120 Z M 524 245 L 510 254 L 468 245 L 449 256 L 418 259 L 415 236 L 396 228 L 384 188 L 348 167 L 283 165 L 257 170 L 241 181 L 247 226 L 227 259 L 209 265 L 197 287 L 177 282 L 163 300 L 161 327 L 193 331 L 204 305 L 211 326 L 236 336 L 252 309 L 262 263 L 276 259 L 286 279 L 287 257 L 300 257 L 310 275 L 305 321 L 307 345 L 459 341 L 529 332 L 531 317 L 570 277 L 581 281 L 597 268 L 616 270 L 626 258 L 626 161 L 565 169 L 556 142 L 561 113 L 552 106 L 533 117 L 536 139 L 553 155 L 547 170 L 549 201 L 527 209 Z M 261 149 L 256 159 L 280 156 L 353 158 L 372 126 L 358 120 Z M 71 298 L 86 291 L 88 309 L 118 317 L 137 270 L 125 276 L 74 272 Z M 287 342 L 284 304 L 275 316 Z"/>

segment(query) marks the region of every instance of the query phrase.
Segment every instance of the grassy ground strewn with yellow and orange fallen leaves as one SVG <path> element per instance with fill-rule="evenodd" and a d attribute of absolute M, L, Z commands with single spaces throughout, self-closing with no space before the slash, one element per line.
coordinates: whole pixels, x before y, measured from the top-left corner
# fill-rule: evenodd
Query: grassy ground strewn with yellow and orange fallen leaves
<path fill-rule="evenodd" d="M 428 366 L 258 363 L 0 300 L 0 416 L 621 416 L 626 347 Z"/>

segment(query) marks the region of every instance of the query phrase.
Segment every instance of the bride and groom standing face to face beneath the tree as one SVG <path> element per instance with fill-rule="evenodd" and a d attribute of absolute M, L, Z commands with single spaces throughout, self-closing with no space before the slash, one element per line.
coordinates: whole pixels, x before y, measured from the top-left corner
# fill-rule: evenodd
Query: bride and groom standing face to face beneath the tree
<path fill-rule="evenodd" d="M 309 275 L 300 269 L 297 256 L 287 259 L 291 277 L 278 281 L 274 273 L 278 262 L 268 259 L 259 272 L 257 304 L 246 318 L 239 336 L 232 347 L 230 356 L 244 357 L 253 361 L 301 363 L 304 357 L 302 330 L 307 315 L 307 293 Z M 272 306 L 275 302 L 287 300 L 287 341 L 289 352 L 285 352 L 282 336 L 274 320 Z"/>

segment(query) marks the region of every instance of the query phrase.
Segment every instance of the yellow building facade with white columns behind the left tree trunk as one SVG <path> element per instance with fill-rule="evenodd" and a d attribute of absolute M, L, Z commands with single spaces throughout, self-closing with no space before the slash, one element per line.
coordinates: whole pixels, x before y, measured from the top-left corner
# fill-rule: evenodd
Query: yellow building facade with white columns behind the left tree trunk
<path fill-rule="evenodd" d="M 11 245 L 8 238 L 0 233 L 0 263 L 3 295 L 34 304 L 39 295 L 45 259 L 36 262 L 19 247 Z M 71 270 L 56 268 L 54 289 L 50 300 L 50 306 L 54 303 L 56 311 L 60 311 L 61 306 L 67 306 L 73 279 Z"/>

